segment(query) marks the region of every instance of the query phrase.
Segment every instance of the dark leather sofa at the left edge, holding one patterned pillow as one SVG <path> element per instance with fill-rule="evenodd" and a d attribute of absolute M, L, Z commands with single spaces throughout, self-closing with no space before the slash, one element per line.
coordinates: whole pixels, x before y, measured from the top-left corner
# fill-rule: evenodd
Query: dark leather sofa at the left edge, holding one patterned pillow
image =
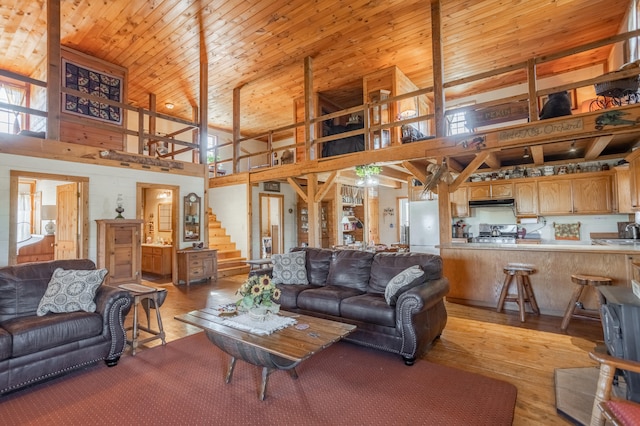
<path fill-rule="evenodd" d="M 36 310 L 56 268 L 95 269 L 89 259 L 0 268 L 0 394 L 104 360 L 114 366 L 126 345 L 128 292 L 98 287 L 95 312 Z"/>

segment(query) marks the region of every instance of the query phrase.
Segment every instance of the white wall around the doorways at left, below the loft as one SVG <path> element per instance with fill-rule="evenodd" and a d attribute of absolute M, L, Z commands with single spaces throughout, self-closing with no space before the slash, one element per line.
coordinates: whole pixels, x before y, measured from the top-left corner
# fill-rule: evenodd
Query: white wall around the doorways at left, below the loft
<path fill-rule="evenodd" d="M 122 194 L 125 209 L 123 216 L 136 218 L 136 184 L 158 183 L 180 186 L 180 196 L 195 192 L 204 193 L 205 182 L 199 177 L 181 176 L 171 173 L 140 171 L 93 164 L 74 163 L 43 158 L 26 157 L 0 153 L 0 266 L 9 262 L 9 191 L 10 171 L 59 174 L 86 177 L 89 179 L 89 258 L 97 259 L 96 219 L 113 219 L 118 194 Z M 182 206 L 178 223 L 182 223 Z M 15 224 L 13 224 L 15 225 Z M 182 243 L 182 229 L 178 231 L 179 247 Z"/>

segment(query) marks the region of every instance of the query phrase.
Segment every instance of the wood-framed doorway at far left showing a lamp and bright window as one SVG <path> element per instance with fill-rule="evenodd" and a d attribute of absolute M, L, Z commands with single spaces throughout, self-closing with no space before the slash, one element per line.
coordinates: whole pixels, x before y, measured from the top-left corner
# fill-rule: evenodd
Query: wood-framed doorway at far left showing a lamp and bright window
<path fill-rule="evenodd" d="M 9 265 L 89 257 L 89 179 L 10 172 Z"/>

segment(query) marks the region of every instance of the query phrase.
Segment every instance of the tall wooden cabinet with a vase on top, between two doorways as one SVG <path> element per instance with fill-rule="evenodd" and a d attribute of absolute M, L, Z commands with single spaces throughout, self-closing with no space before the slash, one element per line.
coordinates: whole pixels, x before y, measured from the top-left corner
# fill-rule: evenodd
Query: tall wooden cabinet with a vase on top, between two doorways
<path fill-rule="evenodd" d="M 105 284 L 140 283 L 142 220 L 100 219 L 98 225 L 98 268 L 109 271 Z"/>

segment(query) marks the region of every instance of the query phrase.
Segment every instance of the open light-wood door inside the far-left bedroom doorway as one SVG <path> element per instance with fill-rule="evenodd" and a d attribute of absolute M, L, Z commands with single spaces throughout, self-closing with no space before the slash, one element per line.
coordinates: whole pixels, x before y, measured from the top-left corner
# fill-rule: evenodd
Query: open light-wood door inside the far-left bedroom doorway
<path fill-rule="evenodd" d="M 78 258 L 78 183 L 56 187 L 55 259 Z"/>

